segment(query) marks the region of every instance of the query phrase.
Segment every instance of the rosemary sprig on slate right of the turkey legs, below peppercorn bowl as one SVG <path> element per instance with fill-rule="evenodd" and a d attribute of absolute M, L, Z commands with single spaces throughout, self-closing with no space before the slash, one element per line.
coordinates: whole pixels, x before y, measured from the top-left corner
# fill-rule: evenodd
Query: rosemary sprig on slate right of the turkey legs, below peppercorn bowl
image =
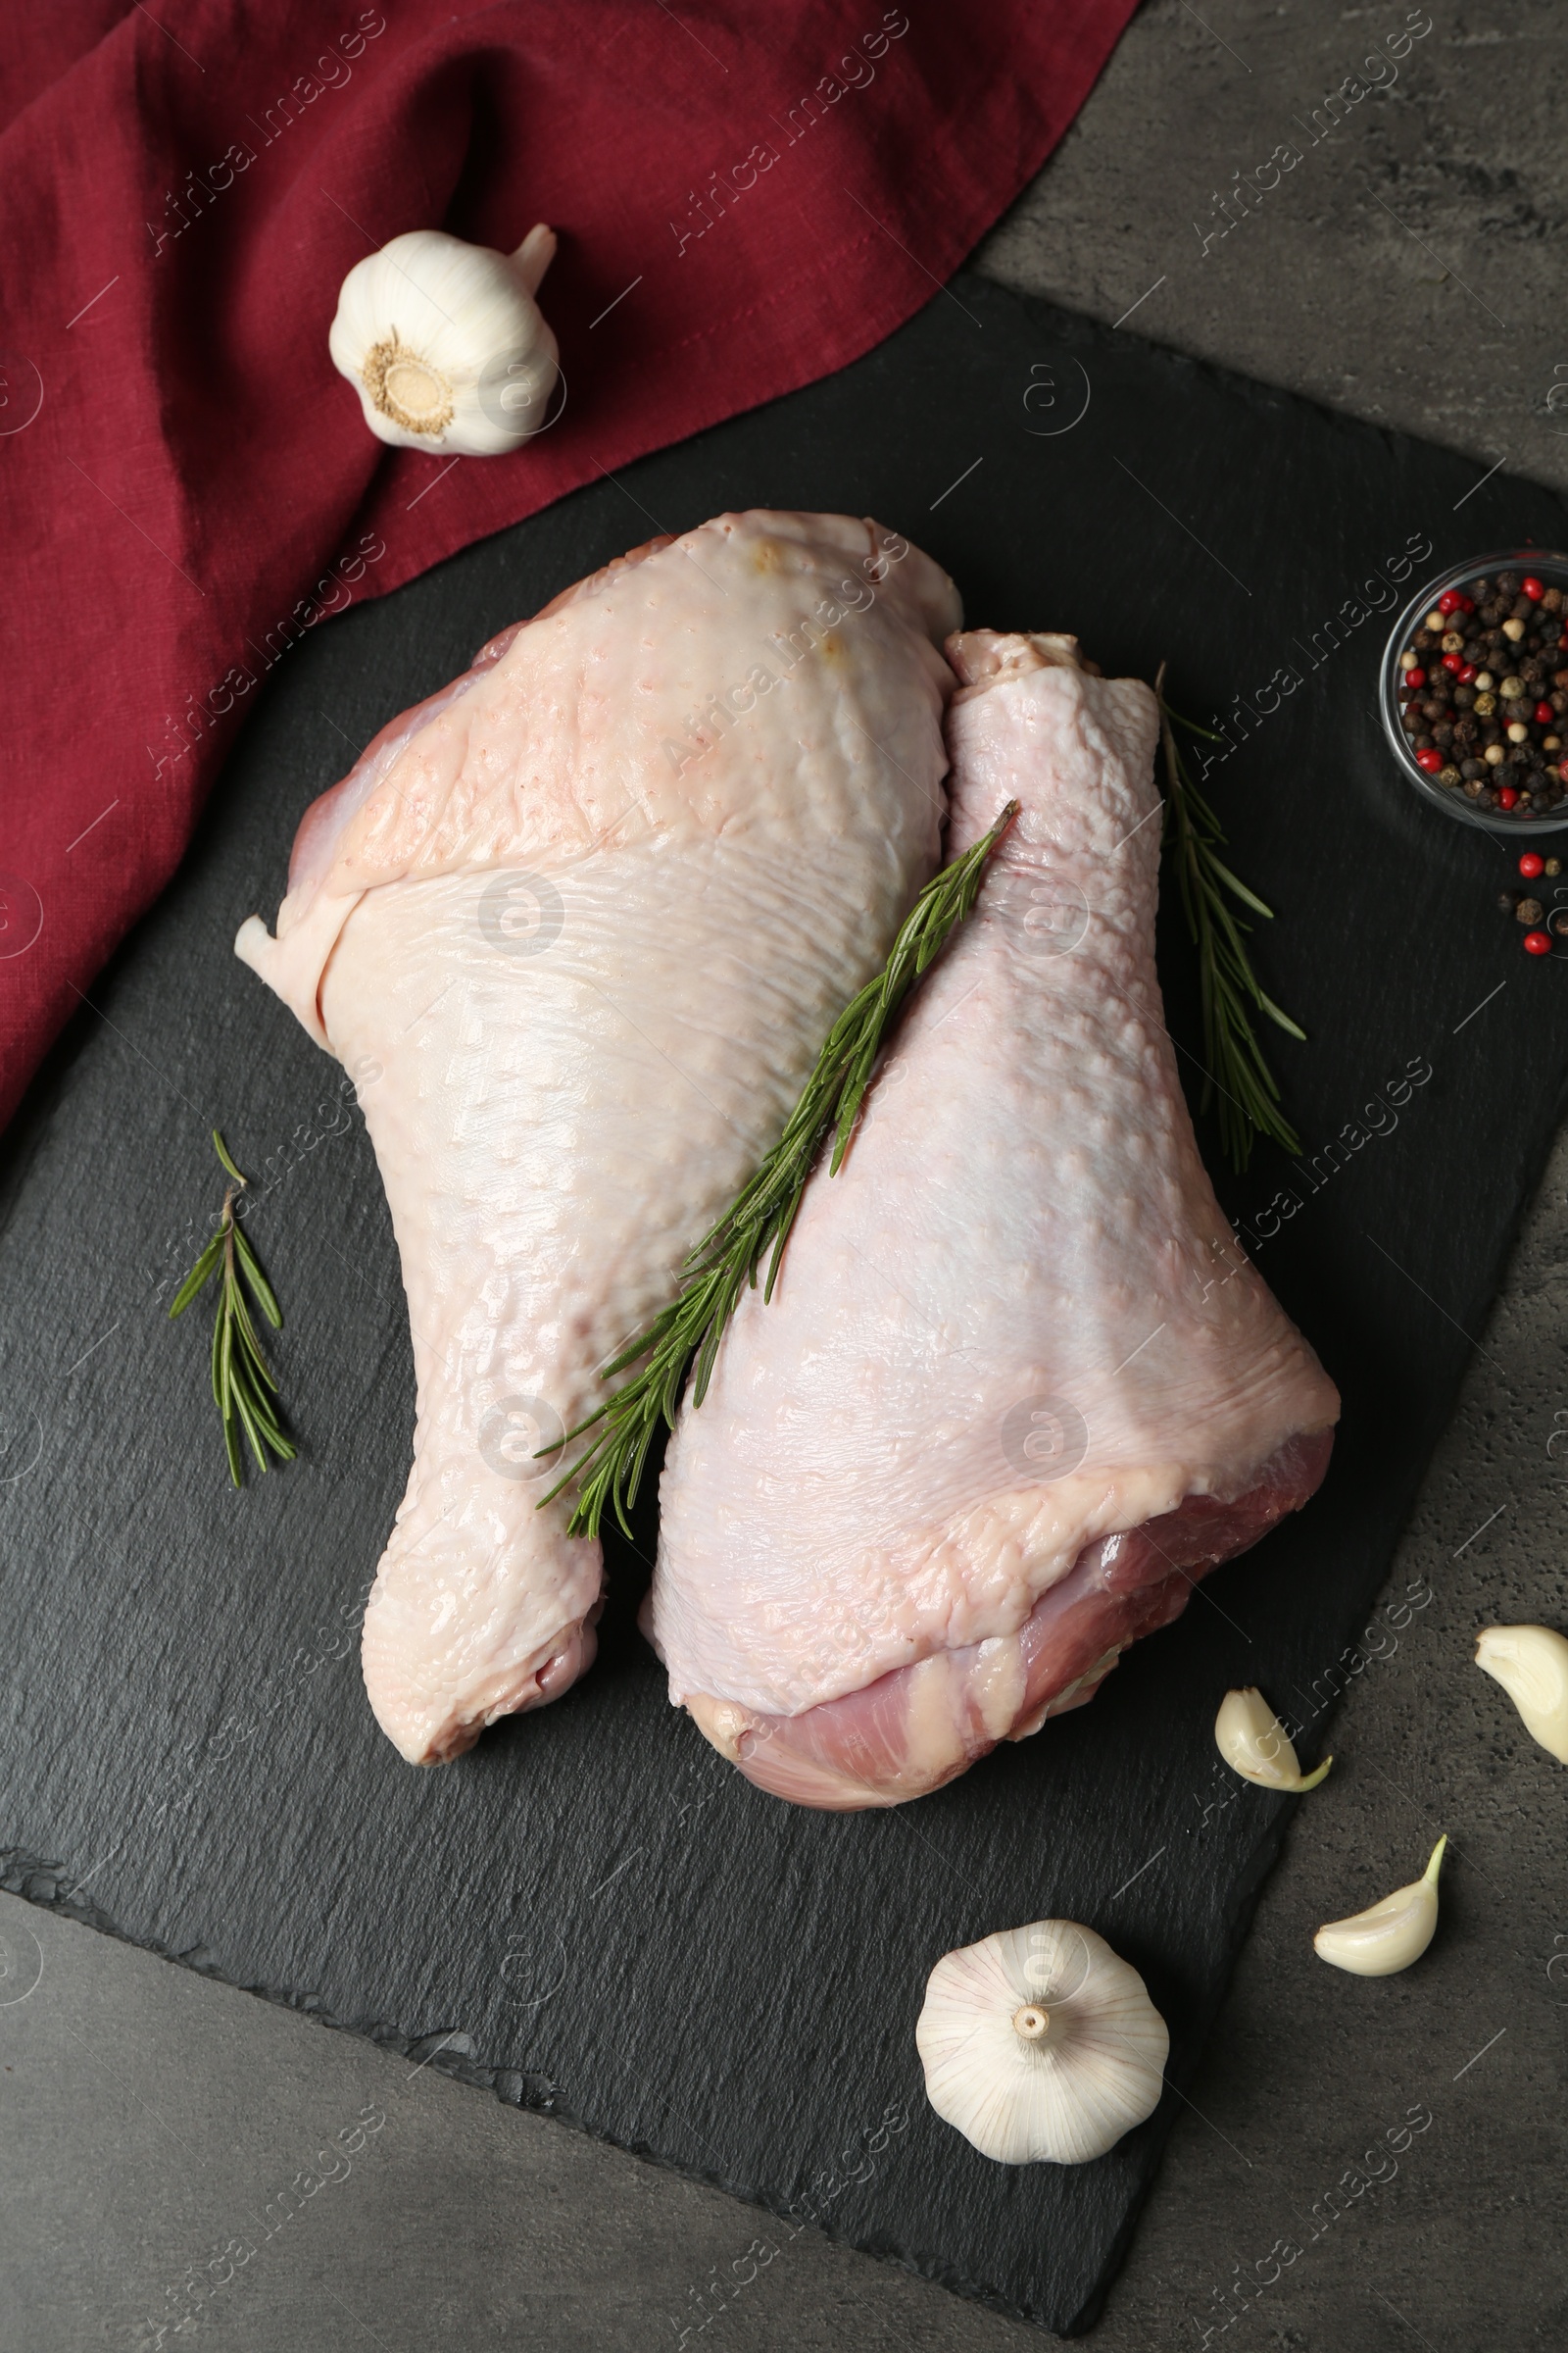
<path fill-rule="evenodd" d="M 1258 1042 L 1248 1007 L 1267 1014 L 1288 1038 L 1305 1042 L 1307 1033 L 1258 984 L 1244 944 L 1244 932 L 1251 932 L 1253 925 L 1234 913 L 1229 899 L 1239 899 L 1253 915 L 1269 922 L 1274 908 L 1265 906 L 1258 892 L 1251 892 L 1220 859 L 1225 831 L 1192 781 L 1175 729 L 1185 727 L 1211 744 L 1220 739 L 1211 727 L 1199 727 L 1197 720 L 1185 720 L 1180 711 L 1171 708 L 1164 661 L 1154 694 L 1168 779 L 1166 849 L 1175 859 L 1187 932 L 1199 951 L 1206 1052 L 1201 1108 L 1206 1111 L 1218 1096 L 1220 1144 L 1229 1165 L 1241 1174 L 1253 1158 L 1255 1136 L 1269 1136 L 1291 1158 L 1300 1153 L 1300 1136 L 1279 1108 L 1279 1080 Z"/>

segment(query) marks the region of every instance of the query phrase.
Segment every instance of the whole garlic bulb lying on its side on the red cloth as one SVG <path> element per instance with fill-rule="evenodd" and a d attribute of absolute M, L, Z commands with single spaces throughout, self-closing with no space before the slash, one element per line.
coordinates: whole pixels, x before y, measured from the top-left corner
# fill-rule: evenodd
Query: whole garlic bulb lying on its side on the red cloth
<path fill-rule="evenodd" d="M 414 228 L 357 261 L 327 348 L 371 433 L 456 456 L 498 456 L 538 433 L 557 348 L 534 294 L 552 256 L 541 224 L 515 254 Z"/>

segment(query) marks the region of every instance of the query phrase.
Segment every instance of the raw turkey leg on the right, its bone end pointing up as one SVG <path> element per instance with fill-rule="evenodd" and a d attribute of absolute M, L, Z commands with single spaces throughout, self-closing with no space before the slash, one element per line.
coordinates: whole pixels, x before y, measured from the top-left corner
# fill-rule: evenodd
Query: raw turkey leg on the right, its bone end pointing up
<path fill-rule="evenodd" d="M 1232 1238 L 1154 974 L 1154 696 L 957 635 L 976 913 L 663 1473 L 644 1628 L 762 1788 L 898 1805 L 1093 1694 L 1316 1489 L 1338 1395 Z"/>

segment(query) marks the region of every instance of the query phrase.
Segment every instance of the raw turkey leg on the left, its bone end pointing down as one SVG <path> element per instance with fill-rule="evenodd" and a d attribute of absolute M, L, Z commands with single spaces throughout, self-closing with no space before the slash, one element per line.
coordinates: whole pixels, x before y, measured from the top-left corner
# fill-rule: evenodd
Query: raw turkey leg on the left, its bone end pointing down
<path fill-rule="evenodd" d="M 362 1659 L 411 1762 L 592 1659 L 559 1440 L 940 859 L 957 619 L 870 522 L 654 541 L 393 722 L 306 814 L 277 936 L 240 932 L 360 1078 L 393 1212 L 414 1468 Z"/>

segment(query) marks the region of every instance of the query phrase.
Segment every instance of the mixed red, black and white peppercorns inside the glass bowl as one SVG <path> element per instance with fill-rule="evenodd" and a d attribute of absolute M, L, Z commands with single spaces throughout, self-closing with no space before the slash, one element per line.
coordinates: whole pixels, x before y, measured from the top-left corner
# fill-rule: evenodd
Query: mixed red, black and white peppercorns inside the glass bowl
<path fill-rule="evenodd" d="M 1399 656 L 1415 765 L 1479 809 L 1568 809 L 1566 598 L 1530 572 L 1446 588 Z"/>

